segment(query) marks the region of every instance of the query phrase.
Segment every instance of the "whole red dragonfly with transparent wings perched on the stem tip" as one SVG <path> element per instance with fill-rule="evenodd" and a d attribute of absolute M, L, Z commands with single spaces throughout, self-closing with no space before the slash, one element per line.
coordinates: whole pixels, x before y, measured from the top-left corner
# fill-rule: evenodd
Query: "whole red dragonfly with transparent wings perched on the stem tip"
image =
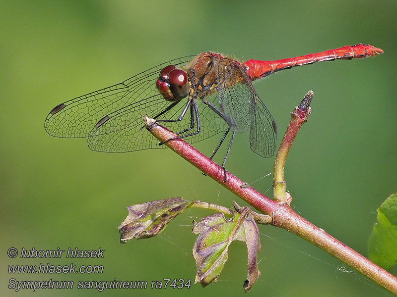
<path fill-rule="evenodd" d="M 236 132 L 250 129 L 251 149 L 263 157 L 275 151 L 275 121 L 252 81 L 295 66 L 381 53 L 382 49 L 358 44 L 295 58 L 240 63 L 207 51 L 168 61 L 120 84 L 61 103 L 48 114 L 45 129 L 56 137 L 88 137 L 88 147 L 97 151 L 161 148 L 142 127 L 142 115 L 147 115 L 163 122 L 177 138 L 189 137 L 191 143 L 223 132 L 211 159 L 232 130 L 224 169 Z"/>

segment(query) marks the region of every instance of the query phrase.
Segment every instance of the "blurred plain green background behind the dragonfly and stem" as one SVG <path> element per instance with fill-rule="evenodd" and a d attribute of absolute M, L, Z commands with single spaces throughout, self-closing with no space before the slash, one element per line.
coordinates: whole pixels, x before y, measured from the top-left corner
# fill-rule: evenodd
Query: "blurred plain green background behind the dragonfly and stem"
<path fill-rule="evenodd" d="M 191 209 L 159 236 L 119 243 L 126 206 L 182 196 L 231 206 L 237 199 L 168 149 L 91 151 L 85 139 L 57 139 L 44 119 L 57 104 L 119 83 L 172 58 L 213 50 L 273 60 L 369 43 L 365 60 L 282 71 L 255 88 L 278 124 L 313 90 L 313 112 L 286 163 L 294 209 L 366 255 L 376 209 L 397 191 L 397 1 L 4 1 L 0 2 L 1 287 L 8 280 L 142 280 L 195 277 Z M 198 143 L 209 155 L 219 137 Z M 221 161 L 222 153 L 216 161 Z M 238 135 L 227 169 L 252 183 L 274 158 Z M 271 176 L 252 184 L 271 194 Z M 241 203 L 243 204 L 243 203 Z M 260 226 L 262 276 L 250 295 L 390 296 L 340 261 L 284 230 Z M 105 250 L 103 259 L 10 259 L 9 247 Z M 40 296 L 243 295 L 247 252 L 234 244 L 217 284 L 189 290 L 41 290 Z M 103 265 L 103 274 L 15 274 L 10 264 Z M 396 274 L 396 269 L 394 273 Z M 392 271 L 393 272 L 393 271 Z M 76 284 L 75 284 L 76 285 Z"/>

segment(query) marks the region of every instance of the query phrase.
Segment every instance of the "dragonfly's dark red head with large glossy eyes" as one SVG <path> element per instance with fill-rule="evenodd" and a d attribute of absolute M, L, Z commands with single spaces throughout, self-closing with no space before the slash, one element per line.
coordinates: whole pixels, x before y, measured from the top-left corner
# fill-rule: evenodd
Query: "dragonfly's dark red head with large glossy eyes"
<path fill-rule="evenodd" d="M 168 101 L 179 101 L 187 97 L 190 91 L 188 75 L 174 65 L 168 65 L 161 70 L 156 86 Z"/>

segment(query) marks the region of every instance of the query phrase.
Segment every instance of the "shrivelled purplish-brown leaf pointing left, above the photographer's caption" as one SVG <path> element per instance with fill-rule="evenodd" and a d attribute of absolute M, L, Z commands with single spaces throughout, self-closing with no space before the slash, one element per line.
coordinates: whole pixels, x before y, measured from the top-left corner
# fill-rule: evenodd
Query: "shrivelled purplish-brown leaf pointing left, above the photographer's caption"
<path fill-rule="evenodd" d="M 156 236 L 192 203 L 175 197 L 128 206 L 128 216 L 119 226 L 120 242 Z"/>

